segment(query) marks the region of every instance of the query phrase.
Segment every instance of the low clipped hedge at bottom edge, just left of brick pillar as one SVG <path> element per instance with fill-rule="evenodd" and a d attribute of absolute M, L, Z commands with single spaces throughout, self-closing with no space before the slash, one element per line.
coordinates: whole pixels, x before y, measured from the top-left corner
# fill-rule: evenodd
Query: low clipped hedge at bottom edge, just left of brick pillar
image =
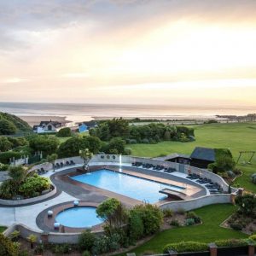
<path fill-rule="evenodd" d="M 168 253 L 171 250 L 177 253 L 206 252 L 208 251 L 208 245 L 198 241 L 181 241 L 167 244 L 163 249 L 164 253 Z"/>

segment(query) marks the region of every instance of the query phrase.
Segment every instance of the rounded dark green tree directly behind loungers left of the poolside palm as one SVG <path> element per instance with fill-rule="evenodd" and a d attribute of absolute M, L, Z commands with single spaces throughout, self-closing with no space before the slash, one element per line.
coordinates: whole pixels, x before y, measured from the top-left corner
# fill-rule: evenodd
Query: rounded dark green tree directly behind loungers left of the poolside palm
<path fill-rule="evenodd" d="M 78 156 L 80 149 L 79 137 L 71 137 L 66 142 L 61 143 L 58 149 L 59 157 L 71 157 Z"/>

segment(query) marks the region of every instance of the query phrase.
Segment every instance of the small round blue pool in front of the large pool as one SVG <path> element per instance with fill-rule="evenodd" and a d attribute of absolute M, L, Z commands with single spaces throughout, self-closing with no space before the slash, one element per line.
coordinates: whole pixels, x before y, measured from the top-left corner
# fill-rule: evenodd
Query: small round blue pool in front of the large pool
<path fill-rule="evenodd" d="M 59 212 L 55 221 L 70 228 L 90 228 L 102 223 L 101 218 L 97 218 L 96 207 L 73 207 Z"/>

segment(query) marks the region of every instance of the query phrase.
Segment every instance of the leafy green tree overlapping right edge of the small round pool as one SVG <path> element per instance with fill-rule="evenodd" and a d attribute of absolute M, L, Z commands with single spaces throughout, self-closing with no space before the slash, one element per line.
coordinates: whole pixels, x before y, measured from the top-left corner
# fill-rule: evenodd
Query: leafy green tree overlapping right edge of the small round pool
<path fill-rule="evenodd" d="M 128 222 L 128 212 L 121 202 L 114 198 L 103 201 L 96 208 L 96 213 L 107 223 L 110 234 L 113 234 L 115 230 L 120 230 Z"/>

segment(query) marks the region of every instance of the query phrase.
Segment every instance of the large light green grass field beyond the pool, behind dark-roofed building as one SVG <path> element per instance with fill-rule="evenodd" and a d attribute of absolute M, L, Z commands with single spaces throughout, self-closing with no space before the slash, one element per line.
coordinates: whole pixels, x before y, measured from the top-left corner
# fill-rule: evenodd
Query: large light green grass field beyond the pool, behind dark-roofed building
<path fill-rule="evenodd" d="M 156 157 L 163 154 L 183 153 L 191 154 L 196 146 L 209 148 L 230 148 L 235 160 L 241 150 L 256 150 L 256 124 L 211 124 L 195 125 L 195 142 L 178 143 L 163 142 L 157 144 L 132 144 L 132 154 L 137 156 Z M 241 162 L 248 160 L 242 158 Z M 250 180 L 250 175 L 256 172 L 256 155 L 252 165 L 238 165 L 244 175 L 237 178 L 241 187 L 256 193 L 256 185 Z"/>

